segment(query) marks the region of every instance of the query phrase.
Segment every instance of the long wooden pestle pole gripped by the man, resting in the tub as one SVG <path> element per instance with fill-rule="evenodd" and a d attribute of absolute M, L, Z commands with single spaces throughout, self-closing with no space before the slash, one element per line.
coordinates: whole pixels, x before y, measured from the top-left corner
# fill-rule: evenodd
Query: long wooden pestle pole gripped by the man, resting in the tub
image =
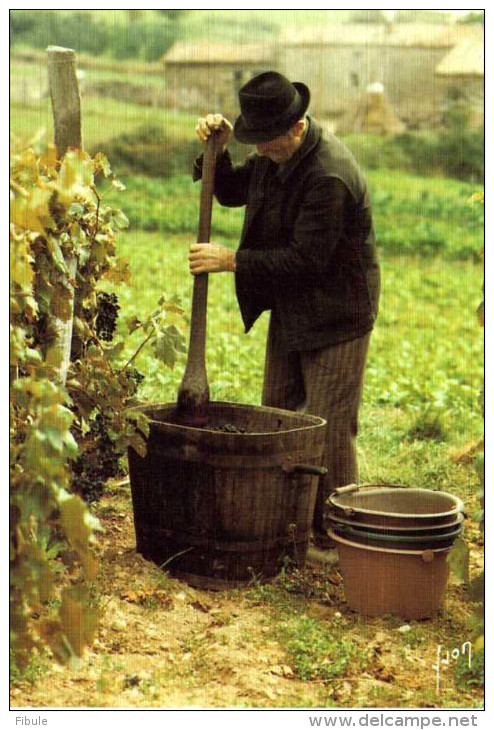
<path fill-rule="evenodd" d="M 202 167 L 198 243 L 209 243 L 216 170 L 217 135 L 206 143 Z M 209 385 L 206 374 L 206 325 L 208 274 L 194 277 L 187 365 L 178 391 L 177 419 L 189 426 L 204 426 L 208 420 Z"/>

